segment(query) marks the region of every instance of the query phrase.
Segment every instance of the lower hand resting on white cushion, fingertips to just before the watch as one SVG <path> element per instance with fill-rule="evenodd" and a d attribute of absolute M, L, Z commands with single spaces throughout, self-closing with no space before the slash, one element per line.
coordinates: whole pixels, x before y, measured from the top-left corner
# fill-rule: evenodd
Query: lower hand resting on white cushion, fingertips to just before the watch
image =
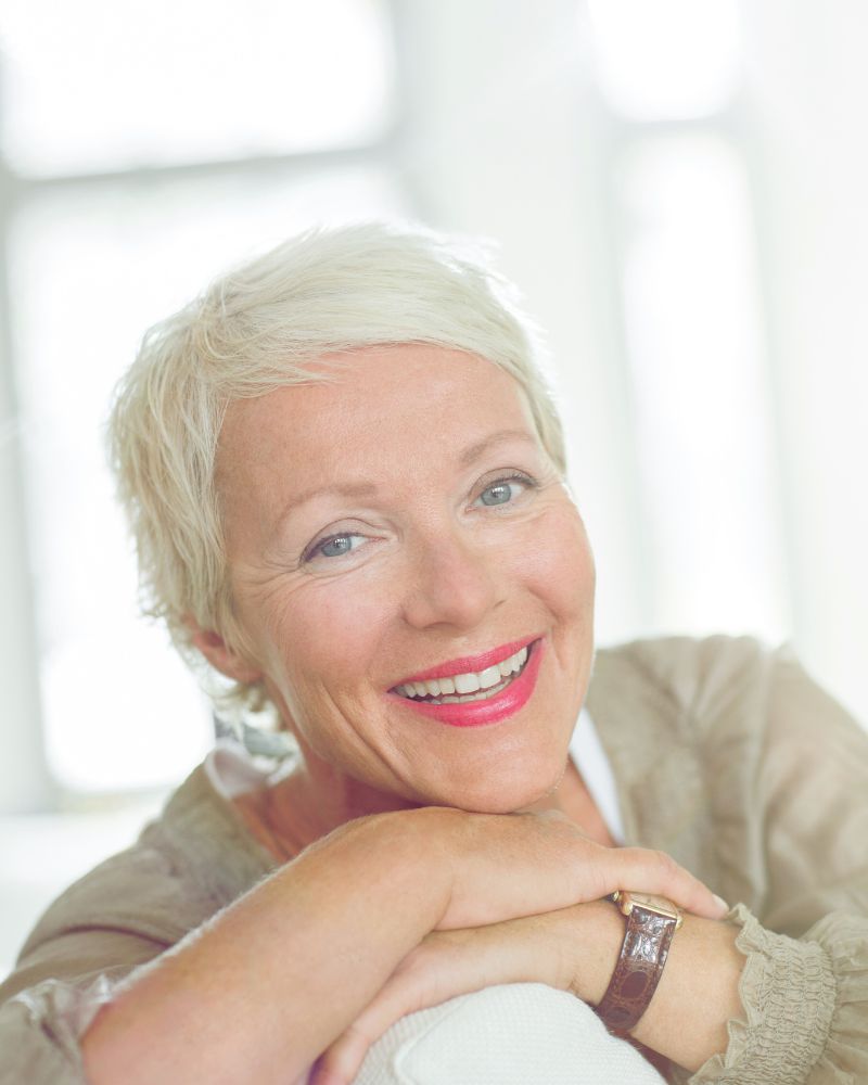
<path fill-rule="evenodd" d="M 583 910 L 576 905 L 541 916 L 464 930 L 434 931 L 409 953 L 376 997 L 317 1060 L 310 1085 L 348 1085 L 368 1049 L 401 1017 L 437 1006 L 458 995 L 500 983 L 545 983 L 575 987 L 583 930 Z M 616 930 L 623 923 L 611 904 Z M 616 948 L 613 948 L 613 954 Z"/>

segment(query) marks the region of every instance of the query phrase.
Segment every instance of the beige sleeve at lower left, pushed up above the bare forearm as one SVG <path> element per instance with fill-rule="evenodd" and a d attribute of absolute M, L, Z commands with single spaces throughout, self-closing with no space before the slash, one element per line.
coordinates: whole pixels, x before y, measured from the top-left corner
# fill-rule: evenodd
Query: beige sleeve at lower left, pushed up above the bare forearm
<path fill-rule="evenodd" d="M 115 856 L 71 886 L 0 984 L 0 1085 L 86 1085 L 79 1038 L 100 1007 L 205 918 L 153 848 Z"/>

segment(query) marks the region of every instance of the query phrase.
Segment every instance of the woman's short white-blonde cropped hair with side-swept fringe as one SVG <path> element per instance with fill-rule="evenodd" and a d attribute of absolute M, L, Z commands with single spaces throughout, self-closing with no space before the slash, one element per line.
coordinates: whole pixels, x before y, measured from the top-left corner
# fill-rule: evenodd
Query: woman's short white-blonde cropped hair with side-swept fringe
<path fill-rule="evenodd" d="M 136 542 L 143 610 L 166 622 L 194 666 L 203 661 L 190 618 L 243 651 L 215 486 L 227 406 L 323 380 L 308 368 L 323 355 L 400 343 L 464 350 L 510 373 L 565 474 L 538 332 L 480 242 L 382 222 L 312 229 L 215 279 L 145 332 L 117 387 L 111 458 Z M 233 687 L 222 700 L 255 709 L 264 692 L 258 684 Z"/>

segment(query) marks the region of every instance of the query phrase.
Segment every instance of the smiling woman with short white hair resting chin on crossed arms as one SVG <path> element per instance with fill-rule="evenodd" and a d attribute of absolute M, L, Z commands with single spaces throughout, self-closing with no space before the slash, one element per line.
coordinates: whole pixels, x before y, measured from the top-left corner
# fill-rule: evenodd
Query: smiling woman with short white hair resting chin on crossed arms
<path fill-rule="evenodd" d="M 595 659 L 534 349 L 475 256 L 380 226 L 145 336 L 112 441 L 149 610 L 297 754 L 218 752 L 52 906 L 0 1080 L 348 1082 L 512 983 L 671 1081 L 868 1080 L 868 739 L 748 639 Z"/>

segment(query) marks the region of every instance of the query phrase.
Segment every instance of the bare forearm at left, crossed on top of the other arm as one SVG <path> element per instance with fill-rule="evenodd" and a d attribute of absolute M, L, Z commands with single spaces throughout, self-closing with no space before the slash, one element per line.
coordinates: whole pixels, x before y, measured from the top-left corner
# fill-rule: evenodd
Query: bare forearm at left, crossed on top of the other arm
<path fill-rule="evenodd" d="M 88 1080 L 294 1081 L 443 915 L 418 820 L 349 827 L 166 954 L 88 1030 Z"/>

